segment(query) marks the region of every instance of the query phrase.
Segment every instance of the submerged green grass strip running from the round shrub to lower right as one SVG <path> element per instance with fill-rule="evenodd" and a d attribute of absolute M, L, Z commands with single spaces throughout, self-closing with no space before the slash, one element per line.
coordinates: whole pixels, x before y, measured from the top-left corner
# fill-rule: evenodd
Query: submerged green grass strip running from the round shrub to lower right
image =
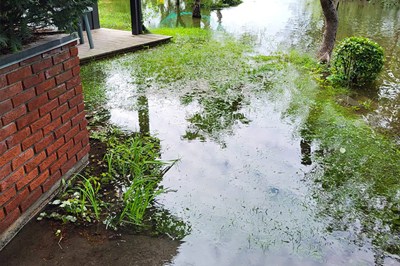
<path fill-rule="evenodd" d="M 299 137 L 315 147 L 314 167 L 306 176 L 327 230 L 352 228 L 357 243 L 372 239 L 378 264 L 385 253 L 400 255 L 399 144 L 374 130 L 356 109 L 341 106 L 336 97 L 349 90 L 333 87 L 324 79 L 324 67 L 310 57 L 291 52 L 265 59 L 282 66 L 279 78 L 293 88 L 288 93 L 274 86 L 271 94 L 276 101 L 288 101 L 284 116 L 302 119 Z"/>

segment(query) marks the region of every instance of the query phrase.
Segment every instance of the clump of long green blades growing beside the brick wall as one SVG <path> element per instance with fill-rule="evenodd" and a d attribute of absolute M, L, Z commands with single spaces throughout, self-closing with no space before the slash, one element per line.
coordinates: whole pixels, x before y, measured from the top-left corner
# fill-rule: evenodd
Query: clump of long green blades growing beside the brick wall
<path fill-rule="evenodd" d="M 150 137 L 136 135 L 125 141 L 109 140 L 109 151 L 105 155 L 109 176 L 124 181 L 121 214 L 117 224 L 144 225 L 146 210 L 154 197 L 165 191 L 159 188 L 161 177 L 177 162 L 164 162 L 159 157 L 159 142 Z"/>

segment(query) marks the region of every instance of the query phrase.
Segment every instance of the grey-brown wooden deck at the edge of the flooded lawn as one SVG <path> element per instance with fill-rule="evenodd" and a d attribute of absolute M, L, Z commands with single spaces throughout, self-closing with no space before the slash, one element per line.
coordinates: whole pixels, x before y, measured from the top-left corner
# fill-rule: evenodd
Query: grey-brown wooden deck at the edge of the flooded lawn
<path fill-rule="evenodd" d="M 113 55 L 131 52 L 145 46 L 153 46 L 168 41 L 172 36 L 157 34 L 132 35 L 131 31 L 118 29 L 92 29 L 95 48 L 89 48 L 88 36 L 84 31 L 84 44 L 79 44 L 79 59 L 81 64 L 95 59 L 112 57 Z"/>

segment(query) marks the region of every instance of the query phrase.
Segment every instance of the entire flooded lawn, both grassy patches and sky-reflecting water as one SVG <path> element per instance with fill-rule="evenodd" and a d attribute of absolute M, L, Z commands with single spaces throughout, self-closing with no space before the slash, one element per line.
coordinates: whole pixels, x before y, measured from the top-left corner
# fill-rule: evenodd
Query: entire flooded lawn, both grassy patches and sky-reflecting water
<path fill-rule="evenodd" d="M 192 230 L 182 242 L 123 236 L 121 250 L 93 252 L 119 253 L 117 265 L 400 265 L 399 6 L 340 2 L 338 40 L 363 35 L 387 56 L 361 92 L 309 74 L 302 54 L 321 40 L 319 1 L 244 0 L 203 10 L 200 24 L 186 1 L 143 6 L 152 32 L 173 41 L 83 66 L 86 108 L 180 159 L 156 206 Z M 124 22 L 125 3 L 100 8 Z M 340 105 L 345 93 L 367 110 Z M 154 241 L 163 256 L 146 260 L 152 246 L 136 260 L 130 241 Z"/>

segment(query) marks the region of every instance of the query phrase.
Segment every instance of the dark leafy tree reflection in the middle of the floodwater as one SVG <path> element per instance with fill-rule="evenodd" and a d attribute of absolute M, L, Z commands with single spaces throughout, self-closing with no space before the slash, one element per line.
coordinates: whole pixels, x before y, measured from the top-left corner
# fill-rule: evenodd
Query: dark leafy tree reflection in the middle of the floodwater
<path fill-rule="evenodd" d="M 190 96 L 188 96 L 190 97 Z M 202 110 L 187 118 L 191 123 L 184 139 L 213 139 L 220 141 L 224 134 L 232 134 L 237 123 L 248 124 L 249 120 L 241 113 L 243 95 L 233 99 L 226 97 L 202 97 L 199 99 Z"/>

